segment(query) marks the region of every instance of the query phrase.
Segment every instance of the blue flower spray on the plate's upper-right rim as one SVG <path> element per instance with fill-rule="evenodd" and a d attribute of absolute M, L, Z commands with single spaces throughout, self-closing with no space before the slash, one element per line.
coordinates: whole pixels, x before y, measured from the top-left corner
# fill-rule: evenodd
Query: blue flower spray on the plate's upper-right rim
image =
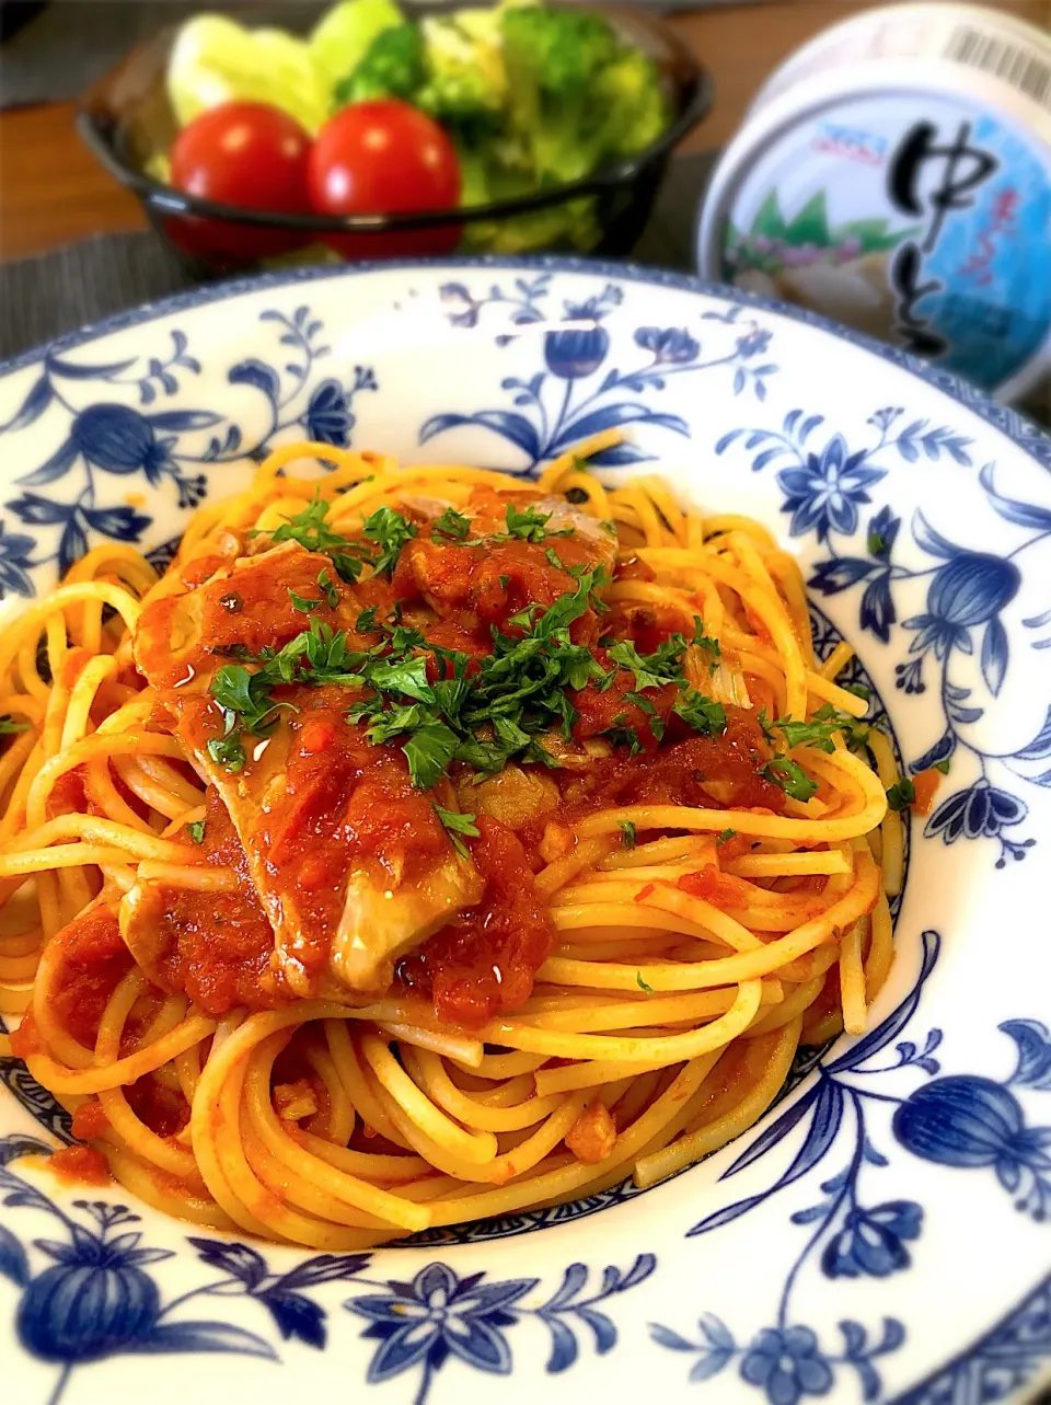
<path fill-rule="evenodd" d="M 937 766 L 947 773 L 957 754 L 967 762 L 974 780 L 940 801 L 925 835 L 940 837 L 946 844 L 961 837 L 995 839 L 999 843 L 996 867 L 1003 868 L 1007 858 L 1024 858 L 1034 840 L 1009 833 L 1026 821 L 1029 806 L 1013 791 L 993 784 L 991 770 L 995 767 L 1005 776 L 1036 785 L 1051 785 L 1051 771 L 1036 776 L 1026 771 L 1026 763 L 1051 756 L 1051 707 L 1045 725 L 1031 742 L 1012 754 L 993 754 L 967 733 L 967 728 L 982 719 L 986 707 L 975 702 L 974 688 L 953 681 L 951 670 L 957 658 L 977 658 L 989 698 L 999 697 L 1010 662 L 1003 613 L 1017 596 L 1023 579 L 1017 556 L 1051 535 L 1051 507 L 1019 502 L 998 492 L 993 465 L 988 464 L 978 481 L 991 507 L 1005 521 L 1029 528 L 1010 555 L 960 547 L 918 510 L 908 535 L 933 565 L 923 569 L 906 566 L 895 559 L 902 521 L 889 504 L 868 518 L 864 555 L 837 551 L 836 535 L 851 538 L 851 544 L 857 537 L 861 509 L 871 504 L 871 489 L 887 478 L 888 457 L 896 455 L 908 464 L 947 461 L 960 468 L 972 466 L 971 440 L 927 420 L 902 423 L 903 417 L 905 412 L 899 407 L 877 410 L 868 419 L 875 443 L 867 447 L 850 450 L 843 434 L 836 433 L 822 448 L 815 448 L 812 437 L 823 424 L 823 417 L 805 416 L 797 409 L 788 412 L 780 431 L 731 430 L 719 438 L 715 452 L 725 454 L 731 445 L 742 443 L 753 451 L 753 472 L 778 464 L 776 476 L 783 492 L 781 511 L 791 514 L 791 535 L 814 532 L 829 548 L 829 555 L 812 568 L 808 580 L 812 590 L 836 596 L 864 584 L 859 604 L 861 631 L 873 634 L 881 643 L 889 643 L 895 627 L 912 635 L 905 660 L 895 666 L 898 688 L 906 694 L 923 694 L 927 688 L 925 663 L 933 662 L 946 728 L 932 747 L 909 763 L 909 770 L 916 774 Z M 925 577 L 925 608 L 899 621 L 896 587 Z M 1051 611 L 1047 611 L 1024 620 L 1023 625 L 1041 629 L 1050 622 Z M 1036 641 L 1033 648 L 1043 648 L 1044 642 Z"/>

